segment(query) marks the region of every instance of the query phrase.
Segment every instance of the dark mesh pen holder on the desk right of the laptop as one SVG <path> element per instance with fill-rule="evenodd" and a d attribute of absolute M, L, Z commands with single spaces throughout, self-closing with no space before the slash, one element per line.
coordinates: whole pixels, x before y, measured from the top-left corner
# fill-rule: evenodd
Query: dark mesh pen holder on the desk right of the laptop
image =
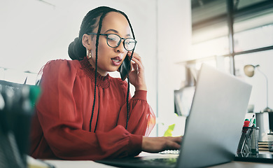
<path fill-rule="evenodd" d="M 258 130 L 259 127 L 243 127 L 243 130 L 241 132 L 241 138 L 237 148 L 237 153 L 259 153 Z"/>

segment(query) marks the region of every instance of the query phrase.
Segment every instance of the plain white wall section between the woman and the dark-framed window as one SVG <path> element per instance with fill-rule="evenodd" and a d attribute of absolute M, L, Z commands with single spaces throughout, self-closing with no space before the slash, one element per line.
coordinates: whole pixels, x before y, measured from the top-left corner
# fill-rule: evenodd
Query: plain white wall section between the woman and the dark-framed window
<path fill-rule="evenodd" d="M 175 130 L 184 125 L 185 118 L 174 116 L 174 90 L 185 80 L 185 69 L 176 64 L 190 57 L 190 0 L 158 1 L 158 135 L 168 125 Z M 160 123 L 164 123 L 162 125 Z M 181 132 L 180 134 L 183 134 Z M 176 136 L 180 135 L 174 134 Z"/>

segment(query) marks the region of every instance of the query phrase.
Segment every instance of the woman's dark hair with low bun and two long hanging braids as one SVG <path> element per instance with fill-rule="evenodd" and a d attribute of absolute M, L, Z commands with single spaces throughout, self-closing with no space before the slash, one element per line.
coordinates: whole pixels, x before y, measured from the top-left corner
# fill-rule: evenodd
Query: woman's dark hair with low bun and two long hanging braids
<path fill-rule="evenodd" d="M 109 12 L 117 12 L 120 13 L 122 15 L 125 16 L 125 18 L 127 19 L 131 31 L 132 31 L 132 36 L 134 37 L 134 31 L 132 29 L 132 25 L 130 23 L 129 18 L 127 17 L 127 15 L 125 13 L 123 13 L 120 10 L 116 10 L 114 8 L 110 8 L 107 6 L 100 6 L 98 8 L 94 8 L 92 10 L 90 10 L 86 15 L 85 18 L 83 18 L 83 21 L 80 25 L 80 31 L 78 34 L 78 37 L 74 39 L 73 42 L 71 42 L 69 44 L 69 57 L 71 59 L 78 59 L 78 60 L 82 60 L 85 56 L 86 56 L 86 49 L 83 46 L 82 43 L 82 38 L 83 38 L 83 34 L 87 34 L 87 33 L 91 33 L 93 32 L 93 30 L 98 27 L 97 30 L 97 34 L 100 34 L 101 29 L 102 29 L 102 20 L 104 19 L 105 15 Z M 98 45 L 99 45 L 99 36 L 97 36 L 96 38 L 96 62 L 95 62 L 95 79 L 94 79 L 94 102 L 93 102 L 93 106 L 92 106 L 92 114 L 91 114 L 91 118 L 90 118 L 90 131 L 91 131 L 91 123 L 92 123 L 92 118 L 93 118 L 93 114 L 94 114 L 94 105 L 95 105 L 95 101 L 96 101 L 96 85 L 97 85 L 97 52 L 98 52 Z M 134 54 L 134 50 L 132 50 L 132 55 Z M 132 57 L 130 57 L 130 61 L 131 61 Z M 127 103 L 127 121 L 126 121 L 126 129 L 127 129 L 127 125 L 128 125 L 128 120 L 129 120 L 129 94 L 130 94 L 130 81 L 129 81 L 129 76 L 127 76 L 127 96 L 126 96 L 126 103 Z M 97 123 L 96 126 L 94 128 L 94 132 L 96 131 L 97 128 Z"/>

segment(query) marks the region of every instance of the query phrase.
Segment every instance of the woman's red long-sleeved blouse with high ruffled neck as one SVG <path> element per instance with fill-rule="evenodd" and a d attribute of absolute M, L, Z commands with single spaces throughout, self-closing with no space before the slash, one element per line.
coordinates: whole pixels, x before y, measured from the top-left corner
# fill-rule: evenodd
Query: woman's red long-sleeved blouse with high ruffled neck
<path fill-rule="evenodd" d="M 45 64 L 42 94 L 31 125 L 32 157 L 101 160 L 141 152 L 142 136 L 150 134 L 155 125 L 146 91 L 139 90 L 134 97 L 130 96 L 130 118 L 125 130 L 127 83 L 97 73 L 90 132 L 94 73 L 87 59 L 58 59 Z"/>

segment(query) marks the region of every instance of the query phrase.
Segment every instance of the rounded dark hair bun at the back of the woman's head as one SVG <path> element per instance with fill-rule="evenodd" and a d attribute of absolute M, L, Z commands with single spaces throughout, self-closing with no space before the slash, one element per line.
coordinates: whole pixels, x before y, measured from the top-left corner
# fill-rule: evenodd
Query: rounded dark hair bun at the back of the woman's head
<path fill-rule="evenodd" d="M 74 59 L 81 60 L 83 59 L 83 57 L 85 57 L 86 55 L 85 47 L 83 46 L 78 37 L 76 37 L 74 41 L 72 41 L 69 44 L 68 54 L 72 60 Z"/>

